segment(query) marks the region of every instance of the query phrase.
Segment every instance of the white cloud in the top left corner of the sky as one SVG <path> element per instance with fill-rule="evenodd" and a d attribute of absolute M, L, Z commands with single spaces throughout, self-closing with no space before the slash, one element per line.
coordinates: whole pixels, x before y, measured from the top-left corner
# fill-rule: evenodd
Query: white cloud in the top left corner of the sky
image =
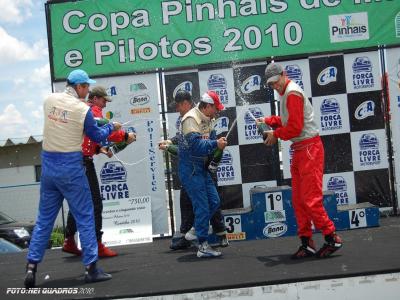
<path fill-rule="evenodd" d="M 32 0 L 0 0 L 0 20 L 20 24 L 32 16 Z"/>

